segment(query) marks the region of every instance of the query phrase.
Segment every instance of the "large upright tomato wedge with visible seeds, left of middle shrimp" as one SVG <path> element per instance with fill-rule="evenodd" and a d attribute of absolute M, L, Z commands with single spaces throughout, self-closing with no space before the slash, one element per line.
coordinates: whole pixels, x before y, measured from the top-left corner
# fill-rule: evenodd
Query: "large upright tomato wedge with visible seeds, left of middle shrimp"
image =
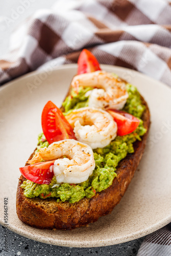
<path fill-rule="evenodd" d="M 41 126 L 49 144 L 64 139 L 76 140 L 71 125 L 52 101 L 48 101 L 42 111 Z"/>

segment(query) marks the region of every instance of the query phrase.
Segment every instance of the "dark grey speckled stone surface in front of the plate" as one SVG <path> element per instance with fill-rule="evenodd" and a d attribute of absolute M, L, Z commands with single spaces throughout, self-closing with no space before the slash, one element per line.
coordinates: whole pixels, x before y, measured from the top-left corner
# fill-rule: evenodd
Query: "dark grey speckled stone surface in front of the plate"
<path fill-rule="evenodd" d="M 134 256 L 137 255 L 138 249 L 144 240 L 143 238 L 133 240 L 123 244 L 117 244 L 106 247 L 94 248 L 72 248 L 61 247 L 55 245 L 44 244 L 36 242 L 8 230 L 8 252 L 4 251 L 4 234 L 5 228 L 0 226 L 0 256 L 84 256 L 84 255 L 98 255 L 98 256 Z"/>

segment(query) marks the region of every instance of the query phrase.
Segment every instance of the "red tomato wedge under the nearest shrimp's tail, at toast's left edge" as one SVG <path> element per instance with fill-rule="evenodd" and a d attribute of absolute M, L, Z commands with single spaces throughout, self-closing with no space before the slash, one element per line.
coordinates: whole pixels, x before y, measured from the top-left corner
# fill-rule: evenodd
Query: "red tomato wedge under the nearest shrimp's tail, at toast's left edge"
<path fill-rule="evenodd" d="M 53 171 L 50 171 L 50 166 L 54 161 L 35 163 L 19 168 L 20 173 L 28 180 L 38 184 L 49 184 L 54 176 Z"/>

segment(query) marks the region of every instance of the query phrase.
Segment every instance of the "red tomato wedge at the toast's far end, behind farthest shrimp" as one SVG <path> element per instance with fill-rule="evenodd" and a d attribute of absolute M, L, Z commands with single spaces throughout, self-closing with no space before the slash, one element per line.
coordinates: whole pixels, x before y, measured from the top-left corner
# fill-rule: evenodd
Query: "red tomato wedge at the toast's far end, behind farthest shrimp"
<path fill-rule="evenodd" d="M 83 49 L 78 58 L 78 72 L 77 74 L 84 74 L 94 72 L 100 69 L 99 62 L 95 58 L 95 56 L 88 51 L 87 49 Z"/>

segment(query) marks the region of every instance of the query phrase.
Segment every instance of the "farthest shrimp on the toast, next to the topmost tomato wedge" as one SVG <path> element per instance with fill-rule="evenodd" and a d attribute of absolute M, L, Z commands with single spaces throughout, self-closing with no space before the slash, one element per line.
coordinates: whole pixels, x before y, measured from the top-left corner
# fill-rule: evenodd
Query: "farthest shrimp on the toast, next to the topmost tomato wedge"
<path fill-rule="evenodd" d="M 87 92 L 89 106 L 94 108 L 119 110 L 129 97 L 125 82 L 105 71 L 77 75 L 71 86 L 75 89 L 79 86 L 95 88 Z"/>

